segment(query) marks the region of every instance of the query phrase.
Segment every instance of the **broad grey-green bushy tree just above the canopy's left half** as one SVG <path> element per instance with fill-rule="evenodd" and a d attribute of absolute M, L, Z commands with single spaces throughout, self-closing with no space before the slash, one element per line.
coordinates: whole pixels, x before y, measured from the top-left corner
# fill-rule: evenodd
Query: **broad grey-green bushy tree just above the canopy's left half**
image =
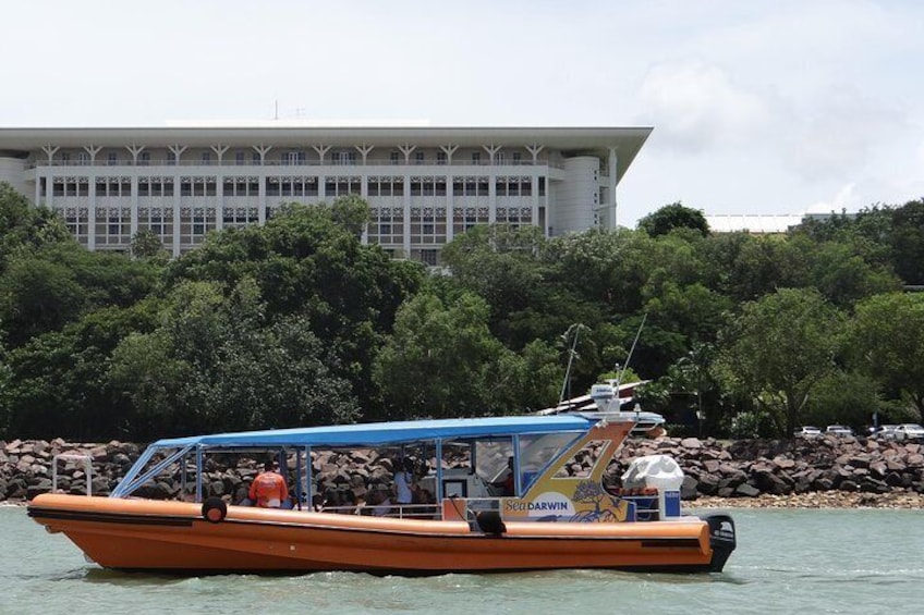
<path fill-rule="evenodd" d="M 268 321 L 256 283 L 186 282 L 156 330 L 126 336 L 109 383 L 150 436 L 350 422 L 357 405 L 304 317 Z"/>

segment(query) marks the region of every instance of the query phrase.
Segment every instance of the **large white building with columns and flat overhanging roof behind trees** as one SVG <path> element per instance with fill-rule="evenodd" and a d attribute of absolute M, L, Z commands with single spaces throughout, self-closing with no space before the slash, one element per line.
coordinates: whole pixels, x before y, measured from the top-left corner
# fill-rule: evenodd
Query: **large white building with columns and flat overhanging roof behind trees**
<path fill-rule="evenodd" d="M 149 229 L 174 256 L 283 202 L 357 194 L 364 239 L 436 265 L 474 224 L 547 236 L 616 226 L 616 188 L 649 127 L 0 128 L 0 181 L 60 211 L 92 250 Z"/>

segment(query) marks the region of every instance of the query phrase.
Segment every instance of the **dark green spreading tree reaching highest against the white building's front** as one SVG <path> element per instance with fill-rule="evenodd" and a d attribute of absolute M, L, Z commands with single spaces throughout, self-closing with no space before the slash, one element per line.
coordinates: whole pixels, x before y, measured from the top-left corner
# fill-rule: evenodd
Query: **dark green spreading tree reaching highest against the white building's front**
<path fill-rule="evenodd" d="M 362 201 L 336 204 L 290 204 L 263 226 L 215 233 L 170 263 L 167 284 L 204 281 L 233 288 L 253 279 L 267 318 L 303 317 L 331 357 L 333 376 L 348 380 L 361 405 L 370 408 L 377 399 L 372 362 L 426 269 L 362 245 L 356 234 Z"/>

